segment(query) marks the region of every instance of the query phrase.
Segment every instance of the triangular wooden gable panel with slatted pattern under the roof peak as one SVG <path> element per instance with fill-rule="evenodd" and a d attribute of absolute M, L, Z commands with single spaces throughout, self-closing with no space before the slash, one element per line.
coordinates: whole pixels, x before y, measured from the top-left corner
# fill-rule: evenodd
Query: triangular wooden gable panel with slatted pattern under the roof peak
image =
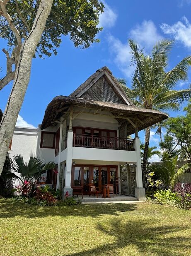
<path fill-rule="evenodd" d="M 80 98 L 123 104 L 104 77 L 100 77 Z"/>

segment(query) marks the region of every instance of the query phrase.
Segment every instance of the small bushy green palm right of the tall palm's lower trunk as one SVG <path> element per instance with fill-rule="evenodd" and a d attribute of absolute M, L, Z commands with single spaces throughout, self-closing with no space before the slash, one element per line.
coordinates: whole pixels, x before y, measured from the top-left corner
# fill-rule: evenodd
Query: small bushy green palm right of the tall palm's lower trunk
<path fill-rule="evenodd" d="M 157 174 L 159 179 L 162 179 L 164 186 L 173 189 L 179 178 L 190 166 L 191 164 L 187 163 L 178 168 L 178 156 L 173 158 L 170 154 L 164 152 L 162 154 L 161 164 L 152 166 L 152 170 Z"/>

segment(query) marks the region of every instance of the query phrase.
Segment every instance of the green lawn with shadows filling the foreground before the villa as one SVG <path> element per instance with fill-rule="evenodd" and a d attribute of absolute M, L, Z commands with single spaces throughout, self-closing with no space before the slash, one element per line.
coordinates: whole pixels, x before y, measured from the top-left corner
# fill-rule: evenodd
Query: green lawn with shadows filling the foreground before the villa
<path fill-rule="evenodd" d="M 154 204 L 39 207 L 0 199 L 0 256 L 191 256 L 191 211 Z"/>

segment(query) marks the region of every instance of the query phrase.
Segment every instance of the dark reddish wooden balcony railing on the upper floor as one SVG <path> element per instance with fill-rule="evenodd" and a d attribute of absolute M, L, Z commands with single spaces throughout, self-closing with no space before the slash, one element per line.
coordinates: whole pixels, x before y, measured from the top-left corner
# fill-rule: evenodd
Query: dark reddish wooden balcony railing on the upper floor
<path fill-rule="evenodd" d="M 135 139 L 99 137 L 73 134 L 73 147 L 91 147 L 98 149 L 118 149 L 135 151 Z"/>

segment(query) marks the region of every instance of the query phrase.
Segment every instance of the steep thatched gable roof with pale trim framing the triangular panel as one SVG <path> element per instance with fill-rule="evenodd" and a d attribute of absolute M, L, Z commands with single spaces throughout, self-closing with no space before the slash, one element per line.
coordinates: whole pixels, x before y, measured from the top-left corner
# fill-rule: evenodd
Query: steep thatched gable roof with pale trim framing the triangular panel
<path fill-rule="evenodd" d="M 94 83 L 94 81 L 97 80 L 97 77 L 99 77 L 100 75 L 104 76 L 107 80 L 107 82 L 110 85 L 115 85 L 118 89 L 115 90 L 116 94 L 118 94 L 118 96 L 121 97 L 123 104 L 128 104 L 128 105 L 132 105 L 133 103 L 131 102 L 131 100 L 127 97 L 127 94 L 124 92 L 123 88 L 121 87 L 121 85 L 119 84 L 119 82 L 116 80 L 116 78 L 112 75 L 111 70 L 109 70 L 108 67 L 102 67 L 99 70 L 97 70 L 93 75 L 91 75 L 84 83 L 82 83 L 82 85 L 80 85 L 77 89 L 75 89 L 74 92 L 72 92 L 69 96 L 70 97 L 79 97 L 78 95 L 86 89 L 86 87 L 88 87 L 89 85 L 91 85 L 91 83 Z M 109 80 L 108 78 L 111 78 L 111 80 Z M 82 97 L 84 98 L 84 97 Z"/>

